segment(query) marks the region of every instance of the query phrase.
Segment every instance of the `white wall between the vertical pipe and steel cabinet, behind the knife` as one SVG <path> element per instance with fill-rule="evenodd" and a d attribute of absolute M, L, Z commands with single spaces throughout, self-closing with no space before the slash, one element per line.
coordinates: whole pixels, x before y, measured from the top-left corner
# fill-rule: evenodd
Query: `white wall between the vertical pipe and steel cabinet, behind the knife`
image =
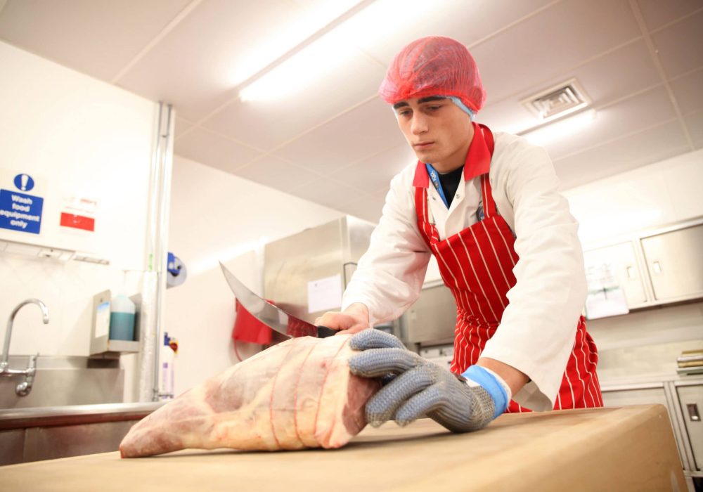
<path fill-rule="evenodd" d="M 183 285 L 167 290 L 163 316 L 165 330 L 179 341 L 176 394 L 237 362 L 231 341 L 234 297 L 218 261 L 261 294 L 264 242 L 340 216 L 337 210 L 174 158 L 169 251 L 188 271 Z M 238 344 L 238 349 L 249 356 L 259 346 Z"/>

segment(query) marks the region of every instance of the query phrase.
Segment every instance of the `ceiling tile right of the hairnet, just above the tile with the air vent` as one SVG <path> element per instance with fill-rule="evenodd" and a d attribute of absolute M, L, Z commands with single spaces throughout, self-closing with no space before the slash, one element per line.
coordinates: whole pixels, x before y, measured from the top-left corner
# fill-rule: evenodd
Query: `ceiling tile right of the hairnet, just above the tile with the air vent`
<path fill-rule="evenodd" d="M 490 104 L 640 36 L 627 0 L 569 0 L 475 46 L 472 54 Z"/>

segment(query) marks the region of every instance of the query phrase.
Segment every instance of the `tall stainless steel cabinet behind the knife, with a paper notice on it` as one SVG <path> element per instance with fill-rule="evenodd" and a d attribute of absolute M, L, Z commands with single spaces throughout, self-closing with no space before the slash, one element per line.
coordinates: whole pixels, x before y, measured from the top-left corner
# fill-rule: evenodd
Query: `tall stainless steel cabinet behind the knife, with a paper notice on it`
<path fill-rule="evenodd" d="M 339 276 L 347 286 L 366 252 L 372 224 L 352 216 L 310 228 L 264 246 L 264 297 L 309 323 L 325 310 L 309 312 L 308 284 Z"/>

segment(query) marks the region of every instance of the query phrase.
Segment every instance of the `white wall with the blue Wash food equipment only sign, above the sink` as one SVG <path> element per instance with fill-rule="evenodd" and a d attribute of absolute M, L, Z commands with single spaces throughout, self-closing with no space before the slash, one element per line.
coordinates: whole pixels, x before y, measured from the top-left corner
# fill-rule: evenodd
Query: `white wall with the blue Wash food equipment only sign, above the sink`
<path fill-rule="evenodd" d="M 1 188 L 25 172 L 44 198 L 39 235 L 0 229 L 0 240 L 92 252 L 109 266 L 0 252 L 0 339 L 15 305 L 38 297 L 15 319 L 10 354 L 87 356 L 93 294 L 139 288 L 149 164 L 157 105 L 105 82 L 0 42 Z M 30 194 L 34 191 L 29 192 Z M 93 233 L 60 228 L 64 200 L 98 202 Z M 129 271 L 129 273 L 125 273 Z"/>

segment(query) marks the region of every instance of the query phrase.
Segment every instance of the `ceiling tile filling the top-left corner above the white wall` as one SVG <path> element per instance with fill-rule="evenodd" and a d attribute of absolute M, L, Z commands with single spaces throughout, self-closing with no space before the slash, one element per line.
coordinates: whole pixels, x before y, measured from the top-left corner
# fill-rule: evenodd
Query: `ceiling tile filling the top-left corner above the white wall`
<path fill-rule="evenodd" d="M 191 0 L 9 0 L 0 39 L 110 80 Z"/>

